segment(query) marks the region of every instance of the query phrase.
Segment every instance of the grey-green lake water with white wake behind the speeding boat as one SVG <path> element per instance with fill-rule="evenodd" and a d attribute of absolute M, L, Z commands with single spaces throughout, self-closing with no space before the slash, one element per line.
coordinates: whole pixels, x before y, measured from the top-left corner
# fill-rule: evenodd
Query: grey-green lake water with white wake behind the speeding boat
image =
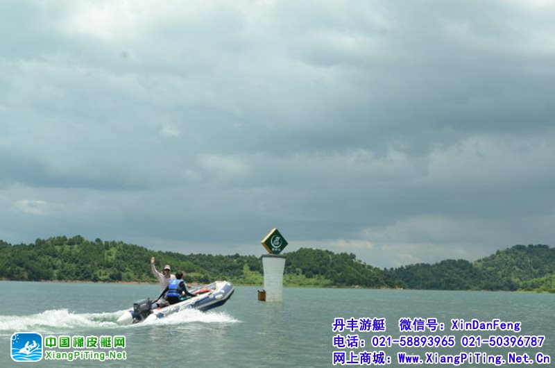
<path fill-rule="evenodd" d="M 532 359 L 541 352 L 550 356 L 552 363 L 555 358 L 555 294 L 284 288 L 283 302 L 264 303 L 257 301 L 257 287 L 236 287 L 228 303 L 209 312 L 183 311 L 153 324 L 115 324 L 133 301 L 155 298 L 159 292 L 157 285 L 0 281 L 0 367 L 332 367 L 334 351 L 345 351 L 348 356 L 351 352 L 384 351 L 391 357 L 391 364 L 385 367 L 400 366 L 400 351 L 418 354 L 422 359 L 425 352 L 456 355 L 461 351 L 504 358 L 509 352 L 527 353 Z M 334 319 L 351 317 L 385 319 L 386 331 L 332 331 Z M 436 318 L 445 323 L 445 331 L 400 333 L 399 319 L 403 317 Z M 451 319 L 520 321 L 522 331 L 450 331 Z M 19 332 L 40 333 L 43 337 L 123 335 L 126 348 L 117 350 L 126 352 L 126 360 L 67 362 L 43 358 L 35 363 L 14 362 L 10 338 Z M 340 349 L 333 346 L 336 335 L 357 335 L 366 345 Z M 391 335 L 394 339 L 399 335 L 454 335 L 456 346 L 401 348 L 393 344 L 373 348 L 370 341 L 375 335 Z M 463 335 L 481 335 L 484 339 L 490 335 L 545 335 L 545 341 L 542 347 L 472 348 L 460 346 Z M 354 338 L 349 339 L 354 343 Z M 538 362 L 527 365 L 537 366 Z M 462 367 L 495 365 L 467 361 Z"/>

